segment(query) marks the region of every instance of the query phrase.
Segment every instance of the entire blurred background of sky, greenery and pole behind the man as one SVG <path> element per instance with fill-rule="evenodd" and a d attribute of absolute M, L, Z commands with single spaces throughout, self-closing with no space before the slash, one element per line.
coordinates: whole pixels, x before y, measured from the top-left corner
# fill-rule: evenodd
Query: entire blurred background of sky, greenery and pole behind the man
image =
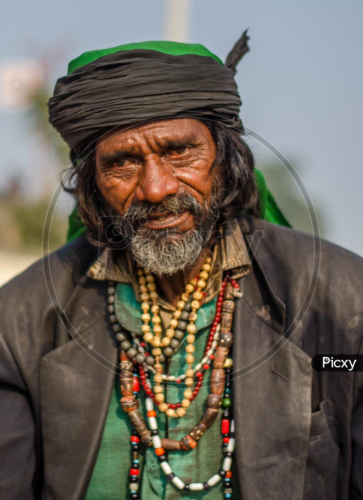
<path fill-rule="evenodd" d="M 243 123 L 288 158 L 322 236 L 363 255 L 362 1 L 19 0 L 1 11 L 0 284 L 65 242 L 73 204 L 59 180 L 68 150 L 46 101 L 68 62 L 160 39 L 202 43 L 224 60 L 247 27 L 251 51 L 236 75 Z M 299 183 L 271 148 L 247 140 L 284 215 L 311 233 Z"/>

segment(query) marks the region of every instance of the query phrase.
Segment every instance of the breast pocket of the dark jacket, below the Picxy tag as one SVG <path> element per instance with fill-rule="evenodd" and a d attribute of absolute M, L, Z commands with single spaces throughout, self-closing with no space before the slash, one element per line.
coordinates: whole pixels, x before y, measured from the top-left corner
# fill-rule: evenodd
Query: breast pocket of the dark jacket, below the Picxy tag
<path fill-rule="evenodd" d="M 335 442 L 333 403 L 325 399 L 312 413 L 304 500 L 336 500 L 339 446 Z"/>

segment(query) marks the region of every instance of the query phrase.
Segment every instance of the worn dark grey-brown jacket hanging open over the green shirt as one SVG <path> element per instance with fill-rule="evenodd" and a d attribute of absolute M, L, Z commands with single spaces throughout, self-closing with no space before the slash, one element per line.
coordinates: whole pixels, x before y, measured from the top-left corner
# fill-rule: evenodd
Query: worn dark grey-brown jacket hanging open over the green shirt
<path fill-rule="evenodd" d="M 234 317 L 236 458 L 244 500 L 363 498 L 363 373 L 313 372 L 362 352 L 363 259 L 263 220 L 241 225 L 253 272 Z M 117 343 L 85 237 L 0 290 L 0 498 L 81 500 Z M 143 499 L 144 500 L 144 499 Z"/>

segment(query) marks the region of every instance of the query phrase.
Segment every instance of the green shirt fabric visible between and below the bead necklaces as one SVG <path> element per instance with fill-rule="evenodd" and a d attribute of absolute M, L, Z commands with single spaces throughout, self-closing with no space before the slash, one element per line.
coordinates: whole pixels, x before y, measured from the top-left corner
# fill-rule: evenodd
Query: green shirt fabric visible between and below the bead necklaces
<path fill-rule="evenodd" d="M 216 297 L 203 303 L 198 310 L 195 321 L 195 363 L 202 358 L 210 325 L 215 314 Z M 115 310 L 120 324 L 129 331 L 141 331 L 141 307 L 136 300 L 132 285 L 118 283 L 115 294 Z M 187 364 L 185 362 L 185 338 L 170 361 L 169 373 L 182 374 Z M 165 413 L 157 411 L 160 437 L 180 439 L 188 434 L 200 420 L 205 409 L 205 398 L 209 394 L 210 370 L 207 370 L 201 390 L 191 405 L 186 409 L 182 418 L 170 418 Z M 183 383 L 168 383 L 166 399 L 170 402 L 181 401 L 185 385 Z M 132 425 L 127 414 L 121 409 L 121 398 L 118 376 L 112 391 L 111 401 L 106 417 L 101 445 L 96 463 L 88 485 L 86 500 L 128 500 L 129 499 L 129 470 L 131 467 L 130 435 Z M 145 395 L 141 388 L 139 392 L 139 410 L 147 421 L 145 410 Z M 204 482 L 218 472 L 222 466 L 222 409 L 214 424 L 201 437 L 197 446 L 190 451 L 169 451 L 168 462 L 173 472 L 184 482 Z M 145 449 L 140 445 L 140 479 L 139 498 L 141 500 L 174 500 L 181 497 L 186 499 L 206 498 L 208 500 L 222 500 L 223 480 L 211 487 L 209 491 L 180 491 L 170 481 L 166 480 L 161 470 L 153 448 Z M 234 500 L 241 499 L 240 488 L 236 473 L 236 463 L 232 462 L 232 487 Z"/>

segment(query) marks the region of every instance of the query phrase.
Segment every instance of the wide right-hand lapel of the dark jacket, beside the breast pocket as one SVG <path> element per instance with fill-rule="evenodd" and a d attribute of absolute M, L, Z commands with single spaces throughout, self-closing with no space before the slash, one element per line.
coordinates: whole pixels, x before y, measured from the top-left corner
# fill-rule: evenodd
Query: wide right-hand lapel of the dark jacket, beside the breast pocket
<path fill-rule="evenodd" d="M 281 318 L 271 318 L 256 298 L 251 272 L 234 316 L 234 418 L 236 458 L 244 500 L 303 498 L 311 423 L 312 366 L 308 354 L 283 336 L 285 305 L 267 281 L 273 262 L 253 265 Z M 254 283 L 254 284 L 253 284 Z M 282 489 L 283 488 L 283 489 Z"/>

